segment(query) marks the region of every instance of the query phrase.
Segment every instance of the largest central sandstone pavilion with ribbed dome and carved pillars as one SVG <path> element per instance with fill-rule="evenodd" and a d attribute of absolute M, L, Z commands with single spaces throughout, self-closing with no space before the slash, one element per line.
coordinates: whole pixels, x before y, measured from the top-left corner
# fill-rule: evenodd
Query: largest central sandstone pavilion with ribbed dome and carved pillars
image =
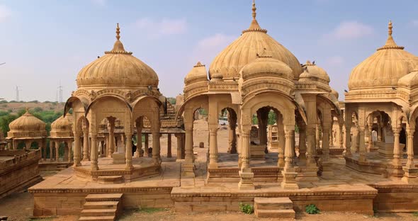
<path fill-rule="evenodd" d="M 317 180 L 318 171 L 330 172 L 329 130 L 332 117 L 339 117 L 339 106 L 327 72 L 310 62 L 300 64 L 295 55 L 268 35 L 256 20 L 254 2 L 249 28 L 215 57 L 208 71 L 198 62 L 184 84 L 184 103 L 178 113 L 183 115 L 186 130 L 183 176 L 195 176 L 193 115 L 200 108 L 208 112 L 208 182 L 239 177 L 240 189 L 253 189 L 254 179 L 277 181 L 279 177 L 283 188 L 298 188 L 297 181 Z M 225 112 L 230 146 L 227 153 L 218 153 L 218 116 Z M 269 115 L 275 115 L 281 143 L 276 153 L 267 152 Z M 254 118 L 258 121 L 256 142 L 252 142 Z M 295 125 L 299 128 L 299 144 L 295 144 Z M 315 143 L 317 128 L 327 140 L 322 147 Z M 299 145 L 298 155 L 295 145 Z M 320 156 L 317 148 L 322 149 Z M 315 157 L 320 158 L 319 164 Z M 228 159 L 235 163 L 228 163 Z M 275 163 L 267 163 L 270 159 Z M 260 160 L 261 166 L 255 164 Z"/>

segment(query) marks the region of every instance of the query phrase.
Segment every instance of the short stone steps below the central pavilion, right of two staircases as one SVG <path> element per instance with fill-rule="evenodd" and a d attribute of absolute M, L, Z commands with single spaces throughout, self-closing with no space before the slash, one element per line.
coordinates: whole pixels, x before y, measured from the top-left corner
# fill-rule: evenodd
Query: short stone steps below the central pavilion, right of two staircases
<path fill-rule="evenodd" d="M 290 198 L 254 198 L 254 213 L 259 218 L 295 218 Z"/>

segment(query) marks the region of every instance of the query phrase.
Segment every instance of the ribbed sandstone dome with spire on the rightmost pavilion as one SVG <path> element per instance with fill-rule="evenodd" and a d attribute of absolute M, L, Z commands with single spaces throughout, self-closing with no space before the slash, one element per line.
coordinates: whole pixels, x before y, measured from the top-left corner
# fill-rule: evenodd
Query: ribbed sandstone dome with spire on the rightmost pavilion
<path fill-rule="evenodd" d="M 412 72 L 417 64 L 418 57 L 405 51 L 393 40 L 390 22 L 385 45 L 354 67 L 349 78 L 349 89 L 396 86 L 399 79 Z"/>

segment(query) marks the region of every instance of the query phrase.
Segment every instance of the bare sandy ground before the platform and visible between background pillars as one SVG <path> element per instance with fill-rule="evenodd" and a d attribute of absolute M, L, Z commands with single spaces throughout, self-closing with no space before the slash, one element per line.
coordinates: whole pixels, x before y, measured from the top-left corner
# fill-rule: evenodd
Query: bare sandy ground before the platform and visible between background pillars
<path fill-rule="evenodd" d="M 151 137 L 151 136 L 150 136 Z M 208 151 L 208 124 L 204 120 L 196 120 L 194 125 L 193 142 L 195 145 L 195 152 Z M 199 148 L 199 142 L 204 142 L 205 148 Z M 167 138 L 164 135 L 161 139 L 162 155 L 166 156 Z M 227 152 L 228 146 L 228 130 L 227 126 L 220 126 L 218 130 L 218 147 L 219 152 Z M 172 154 L 176 157 L 176 139 L 172 137 Z M 174 158 L 175 159 L 175 158 Z M 48 179 L 53 173 L 41 174 L 44 179 Z M 30 193 L 15 193 L 6 198 L 0 199 L 0 216 L 6 215 L 9 220 L 30 220 L 33 214 L 33 198 Z M 54 220 L 54 221 L 76 221 L 77 216 L 61 216 L 49 217 L 38 220 Z M 130 220 L 199 220 L 199 221 L 215 221 L 215 220 L 273 220 L 273 219 L 258 219 L 255 215 L 246 215 L 242 212 L 205 212 L 205 213 L 176 213 L 171 209 L 145 209 L 145 210 L 125 210 L 123 221 Z M 277 219 L 276 219 L 277 220 Z M 322 220 L 418 220 L 418 217 L 412 213 L 378 213 L 374 217 L 361 215 L 356 213 L 344 212 L 323 212 L 319 215 L 307 215 L 304 212 L 297 214 L 296 220 L 322 221 Z"/>

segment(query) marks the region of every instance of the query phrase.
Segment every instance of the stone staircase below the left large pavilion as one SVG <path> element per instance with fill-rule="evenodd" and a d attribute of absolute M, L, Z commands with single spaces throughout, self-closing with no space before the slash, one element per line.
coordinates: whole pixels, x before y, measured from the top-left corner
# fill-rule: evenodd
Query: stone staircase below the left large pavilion
<path fill-rule="evenodd" d="M 114 221 L 122 211 L 123 193 L 89 194 L 79 220 Z"/>

